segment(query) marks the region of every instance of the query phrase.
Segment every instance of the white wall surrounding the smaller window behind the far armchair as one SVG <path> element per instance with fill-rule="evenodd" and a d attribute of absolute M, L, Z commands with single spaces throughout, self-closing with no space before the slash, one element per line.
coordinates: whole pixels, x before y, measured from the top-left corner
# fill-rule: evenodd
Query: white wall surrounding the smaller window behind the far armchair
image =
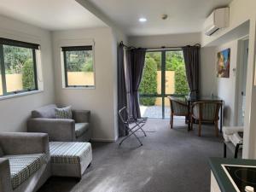
<path fill-rule="evenodd" d="M 61 42 L 95 41 L 96 89 L 63 89 Z M 55 98 L 57 103 L 76 109 L 90 109 L 93 139 L 114 141 L 117 135 L 116 38 L 110 28 L 53 32 Z"/>

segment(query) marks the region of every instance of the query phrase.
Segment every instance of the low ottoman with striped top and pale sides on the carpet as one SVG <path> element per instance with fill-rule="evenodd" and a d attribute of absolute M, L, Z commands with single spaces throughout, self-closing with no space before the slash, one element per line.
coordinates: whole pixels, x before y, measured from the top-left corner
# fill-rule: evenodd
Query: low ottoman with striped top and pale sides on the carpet
<path fill-rule="evenodd" d="M 50 142 L 49 155 L 53 176 L 82 177 L 92 160 L 90 143 Z"/>

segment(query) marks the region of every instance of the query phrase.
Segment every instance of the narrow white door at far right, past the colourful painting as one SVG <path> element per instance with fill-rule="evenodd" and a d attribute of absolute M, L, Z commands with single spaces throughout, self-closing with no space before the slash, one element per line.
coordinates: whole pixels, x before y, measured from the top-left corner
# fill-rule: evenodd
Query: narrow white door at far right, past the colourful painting
<path fill-rule="evenodd" d="M 238 67 L 238 102 L 237 102 L 237 125 L 244 125 L 245 103 L 246 103 L 246 86 L 247 86 L 247 61 L 248 61 L 248 44 L 249 39 L 244 38 L 239 41 L 238 55 L 240 57 L 240 65 Z"/>

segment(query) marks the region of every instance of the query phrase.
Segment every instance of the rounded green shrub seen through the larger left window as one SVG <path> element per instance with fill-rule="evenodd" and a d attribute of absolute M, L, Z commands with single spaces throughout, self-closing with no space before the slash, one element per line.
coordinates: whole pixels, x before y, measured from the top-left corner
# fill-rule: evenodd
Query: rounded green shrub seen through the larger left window
<path fill-rule="evenodd" d="M 22 68 L 22 85 L 24 90 L 35 89 L 34 67 L 32 59 L 25 61 Z"/>

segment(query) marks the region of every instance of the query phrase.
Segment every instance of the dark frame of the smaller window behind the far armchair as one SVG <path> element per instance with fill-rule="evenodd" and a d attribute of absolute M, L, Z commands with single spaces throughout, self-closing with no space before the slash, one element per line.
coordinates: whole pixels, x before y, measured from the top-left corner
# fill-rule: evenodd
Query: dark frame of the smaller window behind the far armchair
<path fill-rule="evenodd" d="M 91 50 L 92 52 L 92 65 L 93 65 L 93 74 L 94 74 L 94 85 L 68 85 L 67 78 L 67 51 L 75 51 L 75 50 Z M 95 61 L 94 61 L 94 47 L 93 45 L 78 45 L 78 46 L 63 46 L 61 47 L 61 52 L 63 56 L 63 66 L 64 66 L 64 88 L 66 89 L 95 89 Z"/>

